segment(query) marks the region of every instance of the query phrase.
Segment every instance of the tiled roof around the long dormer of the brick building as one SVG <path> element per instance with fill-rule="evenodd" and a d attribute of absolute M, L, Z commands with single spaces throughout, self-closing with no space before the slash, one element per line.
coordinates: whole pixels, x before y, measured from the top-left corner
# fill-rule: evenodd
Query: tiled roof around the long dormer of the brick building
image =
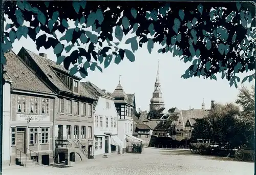
<path fill-rule="evenodd" d="M 60 65 L 60 64 L 57 65 L 56 62 L 54 62 L 46 57 L 39 56 L 25 48 L 22 48 L 22 50 L 23 49 L 30 55 L 30 57 L 36 62 L 36 64 L 42 70 L 42 72 L 44 72 L 44 74 L 47 76 L 47 78 L 56 86 L 56 88 L 59 91 L 68 92 L 68 93 L 73 94 L 73 92 L 61 81 L 61 79 L 57 76 L 57 74 L 53 70 L 53 68 L 55 68 L 55 69 L 59 69 L 59 70 L 69 74 L 69 71 L 67 71 L 63 67 L 63 65 Z M 20 51 L 22 51 L 22 50 L 20 50 Z M 77 79 L 81 79 L 77 76 L 73 76 L 73 77 L 75 77 Z M 95 98 L 92 95 L 90 95 L 87 92 L 87 90 L 84 89 L 83 87 L 79 88 L 79 94 L 82 97 L 87 97 L 87 98 L 91 98 L 91 99 L 95 100 Z"/>

